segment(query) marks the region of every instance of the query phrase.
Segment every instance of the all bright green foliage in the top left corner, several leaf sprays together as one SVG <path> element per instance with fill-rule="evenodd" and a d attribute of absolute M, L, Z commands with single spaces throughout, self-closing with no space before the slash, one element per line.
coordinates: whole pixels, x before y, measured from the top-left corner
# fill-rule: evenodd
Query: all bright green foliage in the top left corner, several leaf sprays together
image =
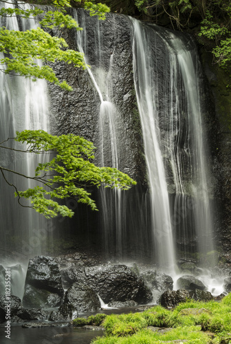
<path fill-rule="evenodd" d="M 81 0 L 75 0 L 76 3 L 81 4 Z M 1 17 L 15 17 L 16 15 L 23 18 L 38 17 L 42 15 L 43 19 L 40 24 L 43 28 L 74 28 L 75 30 L 82 30 L 78 28 L 76 21 L 66 14 L 64 7 L 71 7 L 70 0 L 53 0 L 52 4 L 54 10 L 49 10 L 44 13 L 40 8 L 1 8 Z M 85 1 L 83 3 L 85 9 L 89 10 L 91 16 L 98 15 L 99 19 L 104 19 L 105 13 L 109 12 L 109 8 L 102 3 L 94 3 L 92 1 Z M 2 72 L 6 74 L 17 73 L 21 76 L 31 77 L 32 80 L 44 78 L 50 83 L 72 91 L 67 82 L 64 80 L 60 82 L 54 73 L 54 70 L 48 66 L 39 66 L 36 59 L 47 62 L 64 61 L 65 63 L 72 63 L 74 67 L 85 68 L 85 61 L 83 54 L 74 50 L 69 50 L 68 45 L 64 39 L 56 36 L 51 36 L 43 30 L 43 28 L 36 28 L 19 32 L 8 30 L 5 27 L 0 28 L 0 52 L 5 54 L 0 59 L 1 65 L 6 67 L 1 68 Z"/>

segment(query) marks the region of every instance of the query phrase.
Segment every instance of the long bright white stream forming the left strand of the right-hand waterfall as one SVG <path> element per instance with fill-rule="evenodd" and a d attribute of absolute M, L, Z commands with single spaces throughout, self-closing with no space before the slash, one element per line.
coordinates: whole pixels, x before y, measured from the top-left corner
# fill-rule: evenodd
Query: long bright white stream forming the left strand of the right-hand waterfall
<path fill-rule="evenodd" d="M 157 109 L 158 80 L 155 80 L 151 49 L 150 30 L 133 20 L 133 63 L 137 104 L 140 111 L 144 150 L 151 197 L 151 219 L 153 248 L 158 266 L 174 272 L 175 248 L 173 228 L 170 221 L 170 206 L 166 183 L 166 172 L 161 151 L 159 111 Z"/>

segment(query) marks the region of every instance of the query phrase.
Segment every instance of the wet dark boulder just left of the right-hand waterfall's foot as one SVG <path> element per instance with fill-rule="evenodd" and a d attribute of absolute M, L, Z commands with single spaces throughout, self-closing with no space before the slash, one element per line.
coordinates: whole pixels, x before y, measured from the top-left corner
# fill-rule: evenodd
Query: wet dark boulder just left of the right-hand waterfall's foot
<path fill-rule="evenodd" d="M 141 276 L 149 288 L 155 288 L 159 290 L 159 292 L 164 292 L 165 290 L 173 290 L 172 277 L 165 275 L 162 272 L 148 270 L 143 272 Z"/>

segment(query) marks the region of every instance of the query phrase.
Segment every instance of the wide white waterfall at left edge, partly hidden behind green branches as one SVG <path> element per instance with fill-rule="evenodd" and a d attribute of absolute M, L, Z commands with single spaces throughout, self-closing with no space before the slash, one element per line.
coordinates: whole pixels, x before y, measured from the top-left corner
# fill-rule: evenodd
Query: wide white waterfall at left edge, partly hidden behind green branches
<path fill-rule="evenodd" d="M 8 3 L 5 6 L 12 7 Z M 21 5 L 22 8 L 30 8 L 28 5 Z M 6 28 L 19 30 L 19 21 L 16 17 L 3 19 Z M 34 19 L 20 19 L 22 30 L 35 28 L 38 23 Z M 49 130 L 47 89 L 44 80 L 32 82 L 21 76 L 11 76 L 1 72 L 1 133 L 0 141 L 13 138 L 16 131 L 23 129 Z M 8 142 L 7 142 L 8 143 Z M 6 144 L 5 144 L 6 145 Z M 13 149 L 22 149 L 21 144 L 12 142 Z M 38 160 L 35 155 L 19 153 L 1 149 L 1 164 L 14 171 L 25 175 L 34 175 L 34 169 Z M 5 178 L 17 186 L 18 190 L 25 190 L 33 187 L 32 182 L 10 173 L 5 173 Z M 14 189 L 1 178 L 1 264 L 5 268 L 12 268 L 12 292 L 22 297 L 23 291 L 17 291 L 23 286 L 18 283 L 20 276 L 25 277 L 24 267 L 14 264 L 25 264 L 28 257 L 40 254 L 47 237 L 46 221 L 43 216 L 35 211 L 23 208 L 14 199 Z M 29 205 L 27 202 L 24 205 Z M 5 259 L 4 259 L 5 257 Z M 14 271 L 14 273 L 13 273 Z M 14 277 L 15 276 L 15 277 Z M 23 278 L 23 277 L 22 277 Z"/>

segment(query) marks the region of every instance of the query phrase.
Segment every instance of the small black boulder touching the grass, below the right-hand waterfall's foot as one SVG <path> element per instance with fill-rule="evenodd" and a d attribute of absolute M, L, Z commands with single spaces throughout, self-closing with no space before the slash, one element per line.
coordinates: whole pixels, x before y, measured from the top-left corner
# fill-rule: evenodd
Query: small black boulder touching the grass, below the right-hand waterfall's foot
<path fill-rule="evenodd" d="M 178 303 L 186 302 L 187 299 L 190 299 L 190 294 L 187 290 L 166 290 L 160 297 L 159 303 L 163 307 L 175 307 Z"/>

